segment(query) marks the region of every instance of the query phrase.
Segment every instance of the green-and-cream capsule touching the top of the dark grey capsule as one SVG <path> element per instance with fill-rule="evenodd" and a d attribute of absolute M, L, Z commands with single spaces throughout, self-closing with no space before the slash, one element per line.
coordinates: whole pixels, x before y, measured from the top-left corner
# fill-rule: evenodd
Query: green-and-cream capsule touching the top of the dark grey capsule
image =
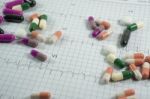
<path fill-rule="evenodd" d="M 135 30 L 143 28 L 143 27 L 144 27 L 143 22 L 137 22 L 137 23 L 132 23 L 132 24 L 128 25 L 127 29 L 130 31 L 135 31 Z"/>

